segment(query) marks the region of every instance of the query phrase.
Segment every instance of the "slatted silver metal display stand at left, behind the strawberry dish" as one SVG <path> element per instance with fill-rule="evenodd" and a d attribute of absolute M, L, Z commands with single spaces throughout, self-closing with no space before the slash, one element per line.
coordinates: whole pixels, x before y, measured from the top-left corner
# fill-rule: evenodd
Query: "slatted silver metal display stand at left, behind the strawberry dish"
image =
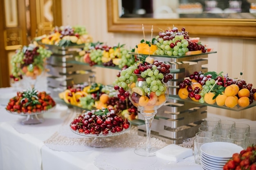
<path fill-rule="evenodd" d="M 67 86 L 88 82 L 93 72 L 90 66 L 67 63 L 73 61 L 82 45 L 77 46 L 53 46 L 45 45 L 52 51 L 51 57 L 47 59 L 46 68 L 49 70 L 47 77 L 47 89 L 53 97 L 58 97 L 60 92 L 67 89 Z"/>

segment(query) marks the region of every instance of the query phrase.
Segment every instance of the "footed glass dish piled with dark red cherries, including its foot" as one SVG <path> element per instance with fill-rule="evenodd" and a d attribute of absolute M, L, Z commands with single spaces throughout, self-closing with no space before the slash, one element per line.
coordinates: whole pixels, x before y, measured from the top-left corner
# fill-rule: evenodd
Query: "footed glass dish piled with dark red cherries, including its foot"
<path fill-rule="evenodd" d="M 108 137 L 122 135 L 130 129 L 130 126 L 130 122 L 115 113 L 112 108 L 83 111 L 70 123 L 72 132 L 94 137 L 89 145 L 94 148 L 104 148 L 115 144 L 115 141 Z"/>

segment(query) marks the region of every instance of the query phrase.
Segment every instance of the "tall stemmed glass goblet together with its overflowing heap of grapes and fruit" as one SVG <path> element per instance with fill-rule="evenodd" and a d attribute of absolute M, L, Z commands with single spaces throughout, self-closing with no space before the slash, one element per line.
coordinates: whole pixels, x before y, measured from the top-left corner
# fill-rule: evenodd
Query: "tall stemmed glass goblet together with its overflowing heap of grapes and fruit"
<path fill-rule="evenodd" d="M 146 124 L 146 147 L 137 148 L 135 153 L 141 156 L 155 156 L 157 148 L 150 144 L 150 126 L 154 116 L 169 95 L 167 82 L 173 78 L 170 65 L 147 57 L 145 61 L 137 61 L 135 65 L 120 72 L 115 89 L 119 98 L 129 98 L 144 117 Z"/>

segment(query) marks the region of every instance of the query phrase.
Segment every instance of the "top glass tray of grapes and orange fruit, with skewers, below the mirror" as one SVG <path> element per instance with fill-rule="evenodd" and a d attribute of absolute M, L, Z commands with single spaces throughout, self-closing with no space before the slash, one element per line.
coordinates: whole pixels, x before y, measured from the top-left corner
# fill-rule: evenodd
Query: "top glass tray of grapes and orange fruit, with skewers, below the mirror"
<path fill-rule="evenodd" d="M 185 28 L 179 30 L 173 26 L 173 28 L 167 28 L 165 31 L 162 30 L 151 40 L 151 43 L 144 39 L 137 45 L 135 53 L 131 54 L 150 54 L 151 57 L 184 58 L 215 53 L 208 45 L 202 45 L 199 37 L 189 37 L 189 32 Z"/>

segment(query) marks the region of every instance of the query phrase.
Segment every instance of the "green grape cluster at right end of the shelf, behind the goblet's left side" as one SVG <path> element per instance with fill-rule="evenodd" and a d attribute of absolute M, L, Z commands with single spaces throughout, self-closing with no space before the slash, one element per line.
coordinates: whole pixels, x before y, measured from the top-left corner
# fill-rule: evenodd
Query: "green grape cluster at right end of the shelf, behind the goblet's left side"
<path fill-rule="evenodd" d="M 126 66 L 131 66 L 135 63 L 135 56 L 132 54 L 129 54 L 130 50 L 126 48 L 120 48 L 121 51 L 121 61 L 118 65 L 119 68 L 123 68 Z"/>

